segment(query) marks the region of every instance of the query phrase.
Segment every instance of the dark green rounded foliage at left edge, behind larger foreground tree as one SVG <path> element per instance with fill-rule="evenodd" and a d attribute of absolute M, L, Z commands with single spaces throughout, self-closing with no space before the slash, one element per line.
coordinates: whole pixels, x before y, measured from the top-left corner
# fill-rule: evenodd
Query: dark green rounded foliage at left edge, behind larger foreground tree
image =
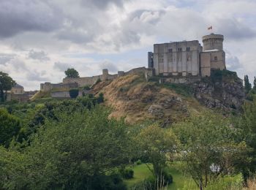
<path fill-rule="evenodd" d="M 0 145 L 8 146 L 20 131 L 20 121 L 7 110 L 0 109 Z"/>

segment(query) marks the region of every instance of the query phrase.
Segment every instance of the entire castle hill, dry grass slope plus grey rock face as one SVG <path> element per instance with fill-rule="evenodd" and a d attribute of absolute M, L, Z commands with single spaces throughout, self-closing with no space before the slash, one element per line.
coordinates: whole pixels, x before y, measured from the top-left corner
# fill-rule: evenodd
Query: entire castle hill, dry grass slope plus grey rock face
<path fill-rule="evenodd" d="M 219 75 L 189 86 L 146 82 L 143 75 L 127 75 L 98 83 L 92 92 L 104 94 L 105 104 L 113 107 L 113 117 L 124 117 L 129 123 L 159 121 L 167 126 L 192 112 L 239 110 L 244 99 L 241 80 L 230 74 Z"/>

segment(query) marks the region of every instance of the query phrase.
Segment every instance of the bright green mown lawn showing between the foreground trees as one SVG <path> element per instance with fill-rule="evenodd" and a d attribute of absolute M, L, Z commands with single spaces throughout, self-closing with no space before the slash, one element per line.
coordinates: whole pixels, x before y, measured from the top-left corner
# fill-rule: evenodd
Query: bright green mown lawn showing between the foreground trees
<path fill-rule="evenodd" d="M 134 178 L 124 180 L 128 186 L 128 189 L 132 189 L 132 186 L 135 186 L 135 184 L 142 182 L 144 179 L 152 175 L 146 164 L 136 165 L 135 167 L 132 167 L 132 170 L 134 171 Z M 167 189 L 183 189 L 185 184 L 187 186 L 189 185 L 189 190 L 198 189 L 197 186 L 195 186 L 192 178 L 184 176 L 181 174 L 181 172 L 176 170 L 175 164 L 173 164 L 172 167 L 169 167 L 168 171 L 171 175 L 173 175 L 173 183 L 168 185 Z"/>

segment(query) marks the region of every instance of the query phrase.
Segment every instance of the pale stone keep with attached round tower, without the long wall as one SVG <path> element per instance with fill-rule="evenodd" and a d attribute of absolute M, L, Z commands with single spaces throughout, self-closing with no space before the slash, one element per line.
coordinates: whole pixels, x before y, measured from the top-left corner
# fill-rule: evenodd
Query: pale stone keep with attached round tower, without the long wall
<path fill-rule="evenodd" d="M 203 37 L 203 47 L 198 40 L 155 44 L 148 68 L 163 76 L 210 76 L 211 69 L 226 68 L 223 40 L 223 35 L 210 34 Z"/>

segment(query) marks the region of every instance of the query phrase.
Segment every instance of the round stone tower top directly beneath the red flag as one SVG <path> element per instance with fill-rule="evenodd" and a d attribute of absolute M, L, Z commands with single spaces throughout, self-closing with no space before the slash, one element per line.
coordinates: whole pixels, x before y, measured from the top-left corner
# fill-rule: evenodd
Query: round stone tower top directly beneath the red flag
<path fill-rule="evenodd" d="M 223 50 L 224 36 L 222 34 L 210 34 L 203 36 L 203 51 Z"/>

